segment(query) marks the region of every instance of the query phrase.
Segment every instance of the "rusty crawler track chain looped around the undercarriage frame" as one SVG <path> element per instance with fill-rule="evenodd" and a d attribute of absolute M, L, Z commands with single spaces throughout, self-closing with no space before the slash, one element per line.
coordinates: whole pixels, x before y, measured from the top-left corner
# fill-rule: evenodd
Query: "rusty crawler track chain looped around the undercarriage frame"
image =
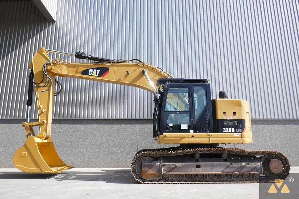
<path fill-rule="evenodd" d="M 278 174 L 273 174 L 267 166 L 263 165 L 262 175 L 252 173 L 196 173 L 196 174 L 163 174 L 159 180 L 145 180 L 136 171 L 136 164 L 142 157 L 166 157 L 179 156 L 195 153 L 211 153 L 211 154 L 238 154 L 242 156 L 254 155 L 262 162 L 267 158 L 280 160 L 283 164 L 283 171 Z M 271 183 L 275 179 L 285 179 L 289 175 L 290 164 L 289 160 L 280 152 L 277 151 L 249 151 L 236 148 L 221 148 L 221 147 L 203 147 L 203 148 L 184 148 L 173 147 L 163 149 L 143 149 L 138 151 L 132 160 L 131 172 L 135 179 L 140 183 L 150 184 L 167 184 L 167 183 Z"/>

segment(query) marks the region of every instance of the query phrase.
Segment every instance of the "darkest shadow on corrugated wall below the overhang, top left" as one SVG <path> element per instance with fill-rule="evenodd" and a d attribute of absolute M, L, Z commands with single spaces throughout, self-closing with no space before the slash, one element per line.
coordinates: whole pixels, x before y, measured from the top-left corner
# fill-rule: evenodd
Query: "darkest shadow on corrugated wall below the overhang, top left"
<path fill-rule="evenodd" d="M 24 45 L 28 42 L 29 45 L 36 45 L 39 49 L 39 43 L 42 43 L 47 36 L 47 29 L 55 24 L 55 22 L 47 21 L 33 1 L 29 0 L 0 1 L 0 18 L 0 27 L 2 27 L 0 35 L 1 66 L 16 64 L 17 62 L 14 61 L 18 60 L 25 61 L 24 57 L 10 56 L 9 60 L 6 58 L 15 50 L 30 50 L 27 45 Z M 19 49 L 20 47 L 21 49 Z M 29 60 L 33 56 L 30 53 L 34 52 L 25 54 L 30 57 Z"/>

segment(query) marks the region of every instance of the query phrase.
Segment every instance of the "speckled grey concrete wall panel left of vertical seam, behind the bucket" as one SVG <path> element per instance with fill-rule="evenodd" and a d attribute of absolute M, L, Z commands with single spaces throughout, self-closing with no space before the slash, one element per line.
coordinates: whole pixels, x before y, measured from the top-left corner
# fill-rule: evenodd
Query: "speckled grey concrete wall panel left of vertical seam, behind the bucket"
<path fill-rule="evenodd" d="M 14 167 L 13 154 L 26 141 L 21 122 L 0 120 L 5 132 L 0 135 L 0 168 Z M 77 168 L 129 168 L 138 151 L 138 120 L 54 120 L 53 123 L 52 139 L 59 156 Z"/>

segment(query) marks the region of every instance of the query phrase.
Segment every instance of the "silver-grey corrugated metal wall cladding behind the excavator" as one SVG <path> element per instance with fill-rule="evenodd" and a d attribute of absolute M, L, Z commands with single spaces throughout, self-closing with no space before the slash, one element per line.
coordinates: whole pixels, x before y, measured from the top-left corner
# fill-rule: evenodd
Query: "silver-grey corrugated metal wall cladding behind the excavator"
<path fill-rule="evenodd" d="M 28 64 L 45 46 L 138 58 L 177 78 L 210 78 L 213 98 L 226 90 L 248 100 L 252 118 L 298 119 L 298 10 L 296 0 L 61 0 L 55 23 L 32 1 L 0 1 L 0 118 L 25 117 Z M 55 118 L 151 117 L 147 91 L 58 79 L 64 89 Z"/>

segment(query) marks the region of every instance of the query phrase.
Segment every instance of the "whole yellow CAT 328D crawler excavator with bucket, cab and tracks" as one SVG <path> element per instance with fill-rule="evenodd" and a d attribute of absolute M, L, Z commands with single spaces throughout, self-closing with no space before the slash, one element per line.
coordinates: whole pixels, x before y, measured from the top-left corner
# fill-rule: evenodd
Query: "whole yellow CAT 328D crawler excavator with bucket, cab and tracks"
<path fill-rule="evenodd" d="M 48 52 L 84 59 L 50 59 Z M 249 151 L 219 147 L 220 143 L 251 143 L 249 103 L 211 99 L 209 79 L 176 79 L 138 59 L 110 60 L 83 52 L 63 53 L 41 48 L 29 66 L 27 133 L 13 162 L 24 172 L 60 173 L 72 168 L 63 162 L 51 139 L 54 96 L 62 85 L 56 76 L 135 86 L 153 94 L 153 137 L 177 147 L 144 149 L 132 160 L 132 175 L 141 183 L 274 182 L 289 175 L 288 159 L 277 151 Z M 57 92 L 55 93 L 55 86 Z M 38 122 L 30 122 L 33 88 Z M 33 126 L 39 127 L 35 134 Z"/>

